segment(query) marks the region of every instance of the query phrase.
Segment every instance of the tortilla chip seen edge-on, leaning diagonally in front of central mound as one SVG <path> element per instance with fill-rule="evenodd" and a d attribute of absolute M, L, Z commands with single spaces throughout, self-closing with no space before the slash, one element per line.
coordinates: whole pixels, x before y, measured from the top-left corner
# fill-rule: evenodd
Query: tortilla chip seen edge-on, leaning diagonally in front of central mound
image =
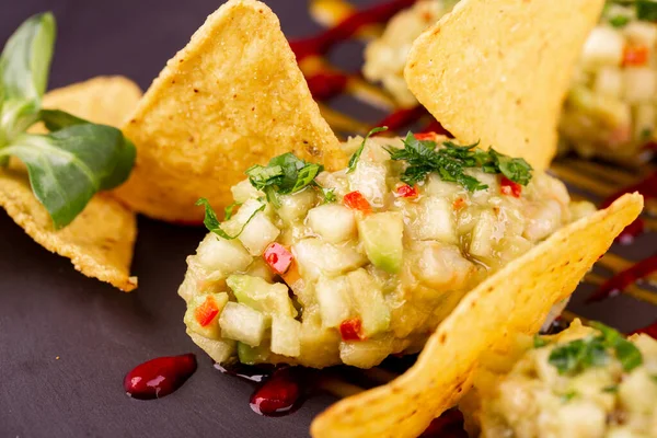
<path fill-rule="evenodd" d="M 625 195 L 508 264 L 465 296 L 406 373 L 333 405 L 315 418 L 312 436 L 422 434 L 470 389 L 482 354 L 510 345 L 518 333 L 537 333 L 550 309 L 575 290 L 642 209 L 641 195 Z"/>

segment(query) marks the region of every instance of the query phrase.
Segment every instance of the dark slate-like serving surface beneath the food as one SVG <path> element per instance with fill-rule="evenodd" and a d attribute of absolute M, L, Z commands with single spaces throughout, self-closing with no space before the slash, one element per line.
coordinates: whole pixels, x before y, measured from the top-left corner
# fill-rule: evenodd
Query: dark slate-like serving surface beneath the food
<path fill-rule="evenodd" d="M 59 26 L 51 88 L 125 74 L 146 89 L 221 3 L 4 0 L 0 42 L 27 16 L 51 10 Z M 304 0 L 267 3 L 288 36 L 319 30 Z M 358 43 L 350 43 L 333 57 L 356 69 L 360 51 Z M 362 107 L 356 115 L 380 116 Z M 140 218 L 132 266 L 140 287 L 126 295 L 78 274 L 68 260 L 44 251 L 0 211 L 0 438 L 308 436 L 311 418 L 330 396 L 314 397 L 284 418 L 260 417 L 249 407 L 252 387 L 216 371 L 185 335 L 184 302 L 176 289 L 185 257 L 203 235 L 200 229 Z M 655 239 L 647 243 L 634 246 L 632 258 L 649 255 Z M 584 308 L 583 297 L 576 297 L 576 309 L 623 330 L 654 318 L 654 308 L 626 298 Z M 123 377 L 135 365 L 187 351 L 197 353 L 199 369 L 176 393 L 139 402 L 123 392 Z"/>

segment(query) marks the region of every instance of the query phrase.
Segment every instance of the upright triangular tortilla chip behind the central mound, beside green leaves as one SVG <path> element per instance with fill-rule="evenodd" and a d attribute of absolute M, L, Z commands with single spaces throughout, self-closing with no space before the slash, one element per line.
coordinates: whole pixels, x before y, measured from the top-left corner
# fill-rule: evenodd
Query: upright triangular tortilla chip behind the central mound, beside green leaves
<path fill-rule="evenodd" d="M 124 132 L 137 145 L 137 164 L 116 195 L 175 222 L 200 222 L 200 197 L 216 208 L 232 203 L 229 187 L 274 155 L 346 163 L 278 19 L 254 0 L 229 1 L 207 19 Z"/>

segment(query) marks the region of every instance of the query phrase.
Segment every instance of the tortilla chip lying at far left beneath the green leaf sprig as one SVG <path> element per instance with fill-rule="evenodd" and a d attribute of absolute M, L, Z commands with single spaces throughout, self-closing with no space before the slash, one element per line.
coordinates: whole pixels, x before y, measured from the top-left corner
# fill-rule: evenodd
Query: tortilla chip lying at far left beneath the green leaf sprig
<path fill-rule="evenodd" d="M 139 96 L 139 88 L 126 78 L 95 78 L 51 91 L 44 97 L 44 106 L 116 126 Z M 10 166 L 0 171 L 0 205 L 34 241 L 70 258 L 82 274 L 124 291 L 137 287 L 137 278 L 129 275 L 137 221 L 135 214 L 117 200 L 96 195 L 68 227 L 56 231 L 47 210 L 32 193 L 25 166 L 11 160 Z"/>

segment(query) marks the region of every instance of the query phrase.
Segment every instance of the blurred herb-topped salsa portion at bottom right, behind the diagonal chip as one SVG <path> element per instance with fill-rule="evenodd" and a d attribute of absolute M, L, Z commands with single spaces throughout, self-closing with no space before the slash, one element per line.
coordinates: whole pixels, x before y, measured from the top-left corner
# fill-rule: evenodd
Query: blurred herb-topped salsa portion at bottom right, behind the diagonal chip
<path fill-rule="evenodd" d="M 646 334 L 576 321 L 483 361 L 495 364 L 474 383 L 483 437 L 657 437 L 657 341 Z"/>

